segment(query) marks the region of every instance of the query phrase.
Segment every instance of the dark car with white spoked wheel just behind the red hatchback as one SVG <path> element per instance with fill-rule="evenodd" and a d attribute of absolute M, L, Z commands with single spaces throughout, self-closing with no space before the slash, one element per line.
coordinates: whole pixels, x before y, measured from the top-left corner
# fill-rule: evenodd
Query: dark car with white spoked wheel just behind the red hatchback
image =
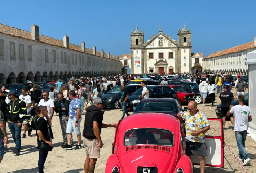
<path fill-rule="evenodd" d="M 197 103 L 202 103 L 203 102 L 203 99 L 202 99 L 200 91 L 199 91 L 199 85 L 197 83 L 193 83 L 193 82 L 172 82 L 170 84 L 171 85 L 181 85 L 184 88 L 185 92 L 197 94 L 195 96 L 195 102 L 197 102 Z M 209 102 L 209 101 L 211 101 L 211 99 L 207 94 L 206 102 Z"/>

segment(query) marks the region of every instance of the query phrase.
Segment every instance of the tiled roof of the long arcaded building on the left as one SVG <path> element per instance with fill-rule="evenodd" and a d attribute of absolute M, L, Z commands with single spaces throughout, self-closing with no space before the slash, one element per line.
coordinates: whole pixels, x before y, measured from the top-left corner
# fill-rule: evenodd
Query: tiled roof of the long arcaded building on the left
<path fill-rule="evenodd" d="M 32 40 L 31 39 L 31 32 L 21 30 L 21 29 L 18 29 L 18 28 L 14 28 L 14 27 L 4 25 L 4 24 L 1 24 L 1 23 L 0 23 L 0 33 L 7 34 L 7 35 L 12 35 L 12 36 L 27 39 L 27 40 Z M 54 39 L 52 37 L 48 37 L 48 36 L 44 36 L 44 35 L 39 35 L 39 40 L 40 40 L 40 42 L 43 42 L 43 43 L 46 43 L 46 44 L 50 44 L 50 45 L 65 48 L 63 46 L 63 40 Z M 32 41 L 35 41 L 35 40 L 32 40 Z M 73 49 L 73 50 L 82 52 L 81 51 L 81 46 L 71 44 L 71 43 L 69 43 L 69 49 Z M 88 53 L 88 54 L 93 54 L 92 49 L 85 48 L 85 52 Z M 96 55 L 101 57 L 101 52 L 97 51 Z M 107 58 L 106 53 L 104 53 L 104 57 Z M 111 55 L 110 58 L 114 59 L 114 55 Z"/>

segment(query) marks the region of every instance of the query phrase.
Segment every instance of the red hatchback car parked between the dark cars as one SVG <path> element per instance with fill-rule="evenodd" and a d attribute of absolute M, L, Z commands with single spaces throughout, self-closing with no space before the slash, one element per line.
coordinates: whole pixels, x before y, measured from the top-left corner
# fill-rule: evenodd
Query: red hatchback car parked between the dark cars
<path fill-rule="evenodd" d="M 195 93 L 187 93 L 180 85 L 166 85 L 173 89 L 176 93 L 178 98 L 181 100 L 181 103 L 188 103 L 190 101 L 195 101 Z"/>

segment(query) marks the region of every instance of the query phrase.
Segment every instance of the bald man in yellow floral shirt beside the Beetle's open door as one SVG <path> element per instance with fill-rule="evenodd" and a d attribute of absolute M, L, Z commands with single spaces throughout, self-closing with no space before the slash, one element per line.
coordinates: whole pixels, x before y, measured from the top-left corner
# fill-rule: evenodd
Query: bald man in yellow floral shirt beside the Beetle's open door
<path fill-rule="evenodd" d="M 184 115 L 181 116 L 180 112 L 177 114 L 177 118 L 180 123 L 185 123 L 186 128 L 186 150 L 187 156 L 192 158 L 195 151 L 198 152 L 200 160 L 200 172 L 204 173 L 205 156 L 207 156 L 205 145 L 205 133 L 210 129 L 207 117 L 197 109 L 197 103 L 190 101 L 187 105 L 187 110 Z"/>

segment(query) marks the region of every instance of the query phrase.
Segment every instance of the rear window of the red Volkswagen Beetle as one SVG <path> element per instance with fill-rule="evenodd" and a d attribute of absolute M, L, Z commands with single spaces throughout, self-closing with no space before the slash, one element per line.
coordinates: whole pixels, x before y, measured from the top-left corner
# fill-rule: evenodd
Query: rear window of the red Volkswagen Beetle
<path fill-rule="evenodd" d="M 131 129 L 124 134 L 124 145 L 162 145 L 173 146 L 173 133 L 155 128 Z"/>

